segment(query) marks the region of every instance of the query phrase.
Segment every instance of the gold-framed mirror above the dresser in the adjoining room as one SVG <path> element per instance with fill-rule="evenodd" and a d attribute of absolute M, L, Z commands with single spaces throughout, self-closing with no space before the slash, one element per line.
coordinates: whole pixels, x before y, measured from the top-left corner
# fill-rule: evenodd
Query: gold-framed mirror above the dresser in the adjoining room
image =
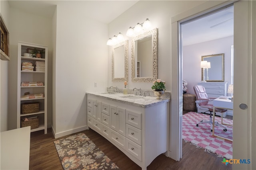
<path fill-rule="evenodd" d="M 202 56 L 202 61 L 210 63 L 210 65 L 208 64 L 210 68 L 206 68 L 204 73 L 206 82 L 224 82 L 224 53 Z"/>

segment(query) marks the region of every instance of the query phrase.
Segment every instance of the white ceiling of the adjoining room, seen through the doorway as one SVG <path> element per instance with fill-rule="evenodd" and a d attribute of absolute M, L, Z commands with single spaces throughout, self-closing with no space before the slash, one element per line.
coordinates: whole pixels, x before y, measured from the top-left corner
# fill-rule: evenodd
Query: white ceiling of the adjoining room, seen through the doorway
<path fill-rule="evenodd" d="M 181 26 L 182 45 L 192 45 L 234 35 L 234 6 Z"/>

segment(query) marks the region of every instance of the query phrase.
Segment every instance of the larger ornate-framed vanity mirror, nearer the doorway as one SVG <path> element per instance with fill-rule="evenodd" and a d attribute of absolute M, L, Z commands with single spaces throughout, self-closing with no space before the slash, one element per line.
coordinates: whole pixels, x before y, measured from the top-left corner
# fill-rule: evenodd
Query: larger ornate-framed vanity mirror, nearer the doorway
<path fill-rule="evenodd" d="M 157 28 L 132 38 L 132 82 L 157 79 Z"/>

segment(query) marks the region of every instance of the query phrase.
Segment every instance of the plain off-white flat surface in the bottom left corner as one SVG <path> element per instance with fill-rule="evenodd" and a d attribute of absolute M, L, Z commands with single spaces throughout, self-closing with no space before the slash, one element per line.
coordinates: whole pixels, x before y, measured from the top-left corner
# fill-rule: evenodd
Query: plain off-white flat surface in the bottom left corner
<path fill-rule="evenodd" d="M 1 170 L 28 170 L 30 126 L 1 132 Z"/>

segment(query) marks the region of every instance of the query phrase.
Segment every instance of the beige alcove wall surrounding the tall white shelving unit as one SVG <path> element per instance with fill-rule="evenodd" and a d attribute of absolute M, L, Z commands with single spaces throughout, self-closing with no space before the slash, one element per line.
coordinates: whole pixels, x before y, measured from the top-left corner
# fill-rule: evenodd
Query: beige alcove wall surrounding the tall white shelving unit
<path fill-rule="evenodd" d="M 18 41 L 48 46 L 48 124 L 51 123 L 52 30 L 51 19 L 10 8 L 10 65 L 9 65 L 9 129 L 17 127 L 17 57 Z"/>

